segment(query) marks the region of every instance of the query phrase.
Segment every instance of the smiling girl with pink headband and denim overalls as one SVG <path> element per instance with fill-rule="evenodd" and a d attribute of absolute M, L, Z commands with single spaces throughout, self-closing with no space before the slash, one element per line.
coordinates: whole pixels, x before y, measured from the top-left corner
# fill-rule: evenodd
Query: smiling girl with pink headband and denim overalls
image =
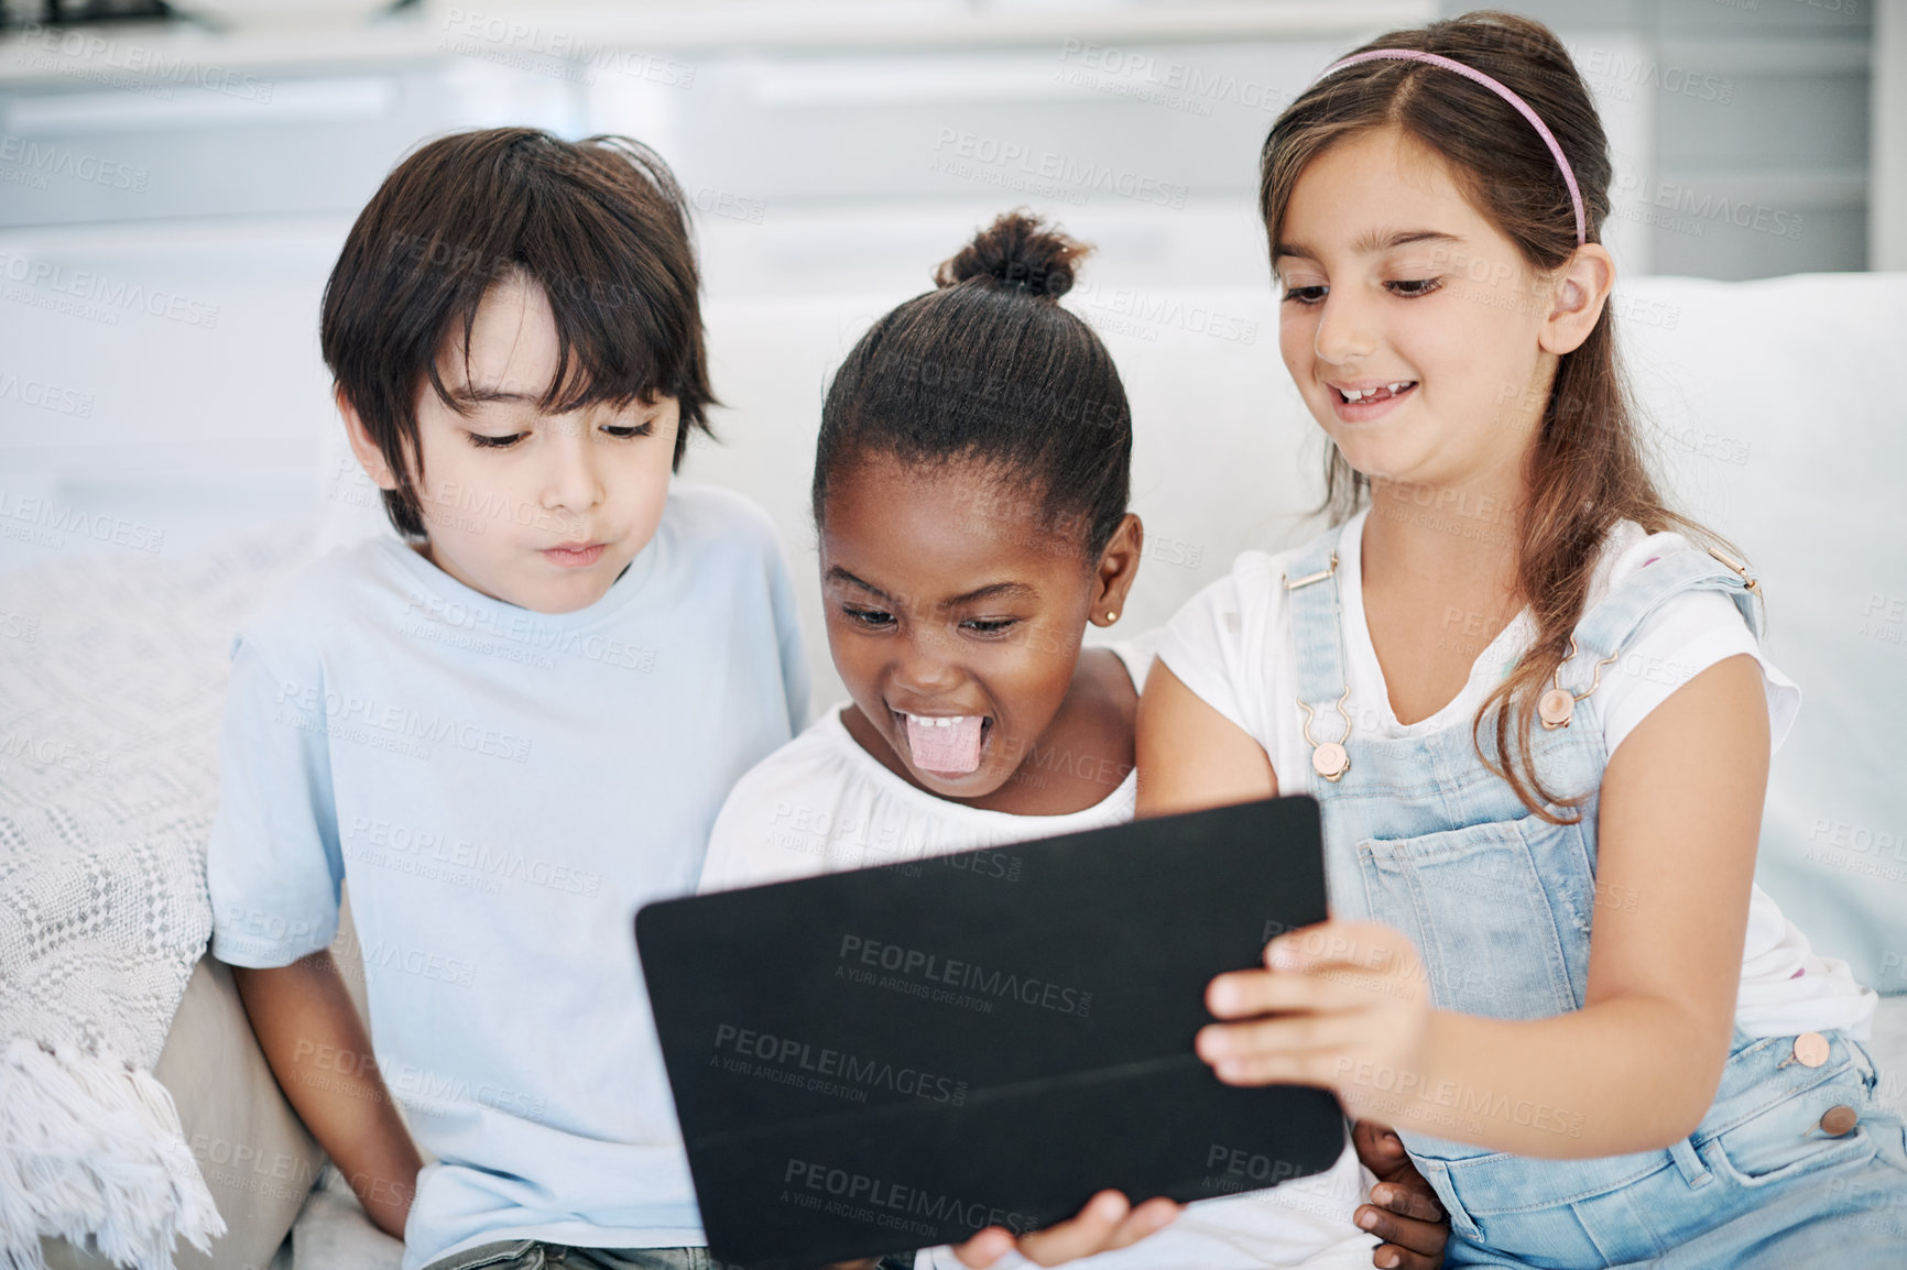
<path fill-rule="evenodd" d="M 1335 524 L 1173 620 L 1138 814 L 1318 797 L 1331 921 L 1213 980 L 1198 1051 L 1394 1125 L 1451 1264 L 1901 1264 L 1876 997 L 1753 881 L 1800 694 L 1642 461 L 1608 191 L 1568 51 L 1507 13 L 1373 42 L 1264 143 Z"/>

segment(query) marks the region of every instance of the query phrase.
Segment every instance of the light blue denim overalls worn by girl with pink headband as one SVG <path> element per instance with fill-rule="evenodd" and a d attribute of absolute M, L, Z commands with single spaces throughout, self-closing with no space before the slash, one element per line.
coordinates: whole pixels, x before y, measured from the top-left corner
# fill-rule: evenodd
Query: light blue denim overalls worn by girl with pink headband
<path fill-rule="evenodd" d="M 1348 690 L 1337 543 L 1331 530 L 1285 576 L 1314 744 L 1337 740 Z M 1568 727 L 1533 728 L 1531 751 L 1547 789 L 1590 795 L 1581 824 L 1529 814 L 1478 759 L 1468 717 L 1428 736 L 1344 736 L 1350 767 L 1337 782 L 1310 780 L 1323 805 L 1333 915 L 1407 934 L 1436 1009 L 1547 1018 L 1583 1007 L 1596 906 L 1594 793 L 1608 761 L 1590 685 L 1598 664 L 1619 658 L 1657 606 L 1693 589 L 1728 595 L 1760 637 L 1743 574 L 1695 549 L 1636 570 L 1575 627 L 1562 686 L 1585 696 Z M 1344 706 L 1346 727 L 1350 717 Z M 1482 740 L 1491 744 L 1487 728 Z M 1604 902 L 1648 904 L 1648 896 Z M 1400 1133 L 1449 1211 L 1447 1264 L 1907 1266 L 1907 1131 L 1876 1104 L 1876 1072 L 1857 1041 L 1838 1030 L 1810 1034 L 1802 1053 L 1825 1060 L 1808 1066 L 1796 1058 L 1796 1037 L 1751 1037 L 1737 1026 L 1714 1104 L 1693 1135 L 1667 1150 L 1539 1159 Z M 1373 1079 L 1381 1091 L 1392 1081 L 1396 1093 L 1383 1096 L 1400 1104 L 1440 1108 L 1453 1138 L 1466 1123 L 1516 1117 L 1564 1144 L 1596 1116 L 1592 1106 L 1543 1108 L 1491 1091 L 1405 1091 L 1384 1074 Z M 1844 1129 L 1850 1114 L 1854 1127 Z"/>

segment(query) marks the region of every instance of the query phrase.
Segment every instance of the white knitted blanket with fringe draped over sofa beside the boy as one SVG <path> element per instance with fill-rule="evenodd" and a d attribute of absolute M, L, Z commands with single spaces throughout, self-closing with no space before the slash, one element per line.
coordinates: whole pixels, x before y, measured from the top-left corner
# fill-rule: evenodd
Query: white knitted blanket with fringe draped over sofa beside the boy
<path fill-rule="evenodd" d="M 0 1270 L 40 1236 L 170 1270 L 225 1230 L 151 1070 L 212 934 L 231 639 L 307 553 L 0 574 Z"/>

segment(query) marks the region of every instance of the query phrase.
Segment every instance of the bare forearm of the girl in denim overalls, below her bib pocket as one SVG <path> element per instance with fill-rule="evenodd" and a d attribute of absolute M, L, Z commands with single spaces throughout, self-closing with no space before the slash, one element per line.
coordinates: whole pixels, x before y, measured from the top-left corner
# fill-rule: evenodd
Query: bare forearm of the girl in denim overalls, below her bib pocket
<path fill-rule="evenodd" d="M 1524 1022 L 1436 1011 L 1413 1072 L 1352 1066 L 1341 1091 L 1360 1116 L 1487 1150 L 1623 1156 L 1693 1133 L 1726 1049 L 1648 997 Z"/>

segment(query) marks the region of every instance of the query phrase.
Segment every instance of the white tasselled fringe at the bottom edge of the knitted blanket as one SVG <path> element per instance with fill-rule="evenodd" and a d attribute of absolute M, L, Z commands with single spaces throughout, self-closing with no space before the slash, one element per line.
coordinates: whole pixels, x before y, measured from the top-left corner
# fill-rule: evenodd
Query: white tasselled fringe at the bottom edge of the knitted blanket
<path fill-rule="evenodd" d="M 15 1037 L 0 1051 L 0 1270 L 46 1270 L 40 1236 L 174 1270 L 225 1234 L 172 1095 L 109 1053 Z"/>

